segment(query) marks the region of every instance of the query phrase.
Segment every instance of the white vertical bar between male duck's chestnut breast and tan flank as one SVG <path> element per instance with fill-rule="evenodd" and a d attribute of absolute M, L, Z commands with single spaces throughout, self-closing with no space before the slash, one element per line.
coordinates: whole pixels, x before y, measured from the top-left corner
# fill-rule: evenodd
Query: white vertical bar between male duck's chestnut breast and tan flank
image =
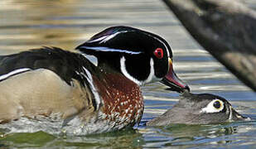
<path fill-rule="evenodd" d="M 85 67 L 83 67 L 83 69 L 85 70 L 85 73 L 88 75 L 88 77 L 86 75 L 84 75 L 84 76 L 88 80 L 90 88 L 92 89 L 92 93 L 94 94 L 94 98 L 95 98 L 96 105 L 97 105 L 96 109 L 98 110 L 99 109 L 99 104 L 101 103 L 100 102 L 101 100 L 100 100 L 99 94 L 97 92 L 97 89 L 95 89 L 95 87 L 94 87 L 93 77 L 90 74 L 89 70 L 86 70 Z"/>

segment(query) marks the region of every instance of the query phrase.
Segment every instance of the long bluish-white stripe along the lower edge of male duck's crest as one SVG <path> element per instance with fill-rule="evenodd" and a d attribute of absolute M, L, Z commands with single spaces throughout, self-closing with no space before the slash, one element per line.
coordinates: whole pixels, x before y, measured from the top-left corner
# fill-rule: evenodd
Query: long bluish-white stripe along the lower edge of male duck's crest
<path fill-rule="evenodd" d="M 81 46 L 80 48 L 90 49 L 90 50 L 96 50 L 96 51 L 106 51 L 106 52 L 121 52 L 121 53 L 127 53 L 131 55 L 138 55 L 142 52 L 140 51 L 130 51 L 130 50 L 121 50 L 121 49 L 112 49 L 109 47 L 104 46 Z"/>

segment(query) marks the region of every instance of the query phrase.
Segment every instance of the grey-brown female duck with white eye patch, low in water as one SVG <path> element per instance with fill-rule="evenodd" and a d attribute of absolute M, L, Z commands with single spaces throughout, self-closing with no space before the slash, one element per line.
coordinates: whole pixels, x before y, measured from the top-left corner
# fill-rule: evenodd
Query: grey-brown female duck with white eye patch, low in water
<path fill-rule="evenodd" d="M 231 104 L 214 94 L 191 94 L 185 92 L 179 103 L 161 116 L 147 122 L 147 126 L 166 126 L 171 123 L 212 124 L 248 121 L 232 108 Z"/>

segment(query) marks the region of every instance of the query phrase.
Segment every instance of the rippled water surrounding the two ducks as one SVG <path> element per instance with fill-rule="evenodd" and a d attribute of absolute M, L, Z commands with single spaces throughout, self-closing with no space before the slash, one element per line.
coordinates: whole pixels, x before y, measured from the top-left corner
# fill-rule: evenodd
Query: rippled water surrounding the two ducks
<path fill-rule="evenodd" d="M 250 7 L 252 0 L 244 0 Z M 72 50 L 109 26 L 134 26 L 164 37 L 173 50 L 176 73 L 193 93 L 218 94 L 250 118 L 256 118 L 256 94 L 202 50 L 167 7 L 157 0 L 2 0 L 0 55 L 40 46 Z M 46 132 L 1 135 L 0 148 L 215 148 L 256 147 L 256 122 L 222 125 L 145 127 L 143 123 L 171 108 L 178 94 L 162 84 L 142 88 L 145 111 L 134 129 L 86 137 L 60 137 Z M 2 130 L 1 132 L 4 132 Z"/>

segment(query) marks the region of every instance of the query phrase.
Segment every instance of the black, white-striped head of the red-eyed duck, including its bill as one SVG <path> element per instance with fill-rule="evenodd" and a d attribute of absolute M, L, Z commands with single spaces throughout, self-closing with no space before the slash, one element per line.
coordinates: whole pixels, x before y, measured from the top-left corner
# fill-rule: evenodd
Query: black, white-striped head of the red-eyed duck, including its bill
<path fill-rule="evenodd" d="M 128 26 L 113 26 L 76 47 L 94 55 L 98 66 L 131 79 L 138 85 L 161 81 L 173 91 L 189 90 L 172 67 L 171 47 L 162 37 Z"/>

